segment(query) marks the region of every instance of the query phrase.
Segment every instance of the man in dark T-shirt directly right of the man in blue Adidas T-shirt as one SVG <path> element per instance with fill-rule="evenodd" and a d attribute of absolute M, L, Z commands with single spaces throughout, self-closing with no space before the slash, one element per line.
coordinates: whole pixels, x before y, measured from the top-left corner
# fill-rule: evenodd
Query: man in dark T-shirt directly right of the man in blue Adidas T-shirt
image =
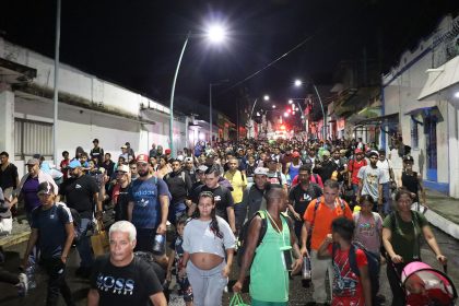
<path fill-rule="evenodd" d="M 188 197 L 191 193 L 192 184 L 190 176 L 181 169 L 180 161 L 173 160 L 170 163 L 173 170 L 164 176 L 164 181 L 172 196 L 168 221 L 175 224 L 191 207 Z"/>

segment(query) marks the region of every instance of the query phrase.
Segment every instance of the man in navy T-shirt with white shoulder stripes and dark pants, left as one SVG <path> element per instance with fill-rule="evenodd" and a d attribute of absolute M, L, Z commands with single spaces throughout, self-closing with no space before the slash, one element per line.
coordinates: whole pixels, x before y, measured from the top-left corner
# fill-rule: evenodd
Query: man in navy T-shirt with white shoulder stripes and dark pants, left
<path fill-rule="evenodd" d="M 56 191 L 51 184 L 42 183 L 37 190 L 42 205 L 32 212 L 32 233 L 23 267 L 27 266 L 28 256 L 38 243 L 40 263 L 49 276 L 46 305 L 58 305 L 59 293 L 67 305 L 75 305 L 66 282 L 66 263 L 74 237 L 72 215 L 64 204 L 56 202 Z"/>

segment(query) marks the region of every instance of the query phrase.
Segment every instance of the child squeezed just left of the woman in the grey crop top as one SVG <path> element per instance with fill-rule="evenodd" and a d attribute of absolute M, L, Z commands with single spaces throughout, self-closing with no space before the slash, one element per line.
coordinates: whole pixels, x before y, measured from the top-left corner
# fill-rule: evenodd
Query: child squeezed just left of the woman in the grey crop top
<path fill-rule="evenodd" d="M 177 237 L 170 244 L 170 255 L 169 262 L 167 264 L 167 282 L 172 280 L 172 267 L 175 263 L 175 271 L 177 272 L 177 284 L 180 286 L 180 295 L 184 295 L 184 301 L 186 306 L 192 306 L 192 290 L 188 276 L 180 276 L 178 271 L 183 268 L 183 258 L 184 258 L 184 248 L 181 247 L 184 243 L 184 228 L 186 220 L 180 219 L 177 221 Z"/>

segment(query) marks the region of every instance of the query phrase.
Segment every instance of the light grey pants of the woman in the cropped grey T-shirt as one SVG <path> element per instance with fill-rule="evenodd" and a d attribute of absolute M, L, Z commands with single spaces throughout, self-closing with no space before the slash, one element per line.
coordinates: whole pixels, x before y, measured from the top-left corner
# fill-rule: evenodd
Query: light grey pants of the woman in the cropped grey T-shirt
<path fill-rule="evenodd" d="M 192 287 L 195 306 L 222 305 L 223 290 L 228 283 L 228 278 L 222 275 L 225 266 L 226 262 L 222 261 L 213 269 L 201 270 L 192 264 L 191 260 L 188 261 L 187 274 Z"/>

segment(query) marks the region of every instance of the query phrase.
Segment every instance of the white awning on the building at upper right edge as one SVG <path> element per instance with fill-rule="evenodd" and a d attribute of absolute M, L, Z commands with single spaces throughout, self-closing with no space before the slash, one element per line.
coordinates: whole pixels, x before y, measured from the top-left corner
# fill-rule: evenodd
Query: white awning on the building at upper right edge
<path fill-rule="evenodd" d="M 424 99 L 459 84 L 459 56 L 436 69 L 427 69 L 427 81 L 417 99 Z"/>

